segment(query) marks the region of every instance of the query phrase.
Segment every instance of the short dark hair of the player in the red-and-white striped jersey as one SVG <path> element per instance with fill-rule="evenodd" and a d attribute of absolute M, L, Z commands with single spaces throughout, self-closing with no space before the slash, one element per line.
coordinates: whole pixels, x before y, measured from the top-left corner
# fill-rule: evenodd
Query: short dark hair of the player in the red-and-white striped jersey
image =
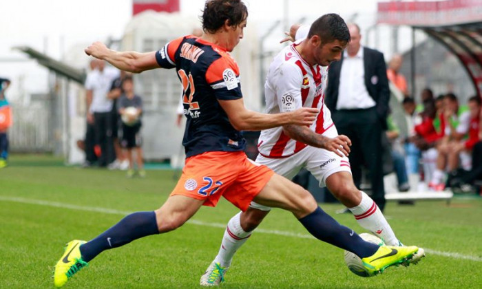
<path fill-rule="evenodd" d="M 345 21 L 338 14 L 324 14 L 322 17 L 311 24 L 308 38 L 317 35 L 322 43 L 331 43 L 335 40 L 346 42 L 350 41 L 350 31 Z"/>

